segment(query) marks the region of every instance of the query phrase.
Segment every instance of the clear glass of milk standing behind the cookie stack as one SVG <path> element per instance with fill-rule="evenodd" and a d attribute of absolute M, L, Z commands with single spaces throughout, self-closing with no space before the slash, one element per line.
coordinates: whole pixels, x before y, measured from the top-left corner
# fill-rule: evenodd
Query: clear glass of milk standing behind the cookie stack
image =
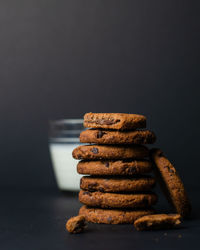
<path fill-rule="evenodd" d="M 72 151 L 80 145 L 83 131 L 82 119 L 64 119 L 50 122 L 49 149 L 57 185 L 62 191 L 78 191 L 81 175 L 77 173 L 78 161 Z"/>

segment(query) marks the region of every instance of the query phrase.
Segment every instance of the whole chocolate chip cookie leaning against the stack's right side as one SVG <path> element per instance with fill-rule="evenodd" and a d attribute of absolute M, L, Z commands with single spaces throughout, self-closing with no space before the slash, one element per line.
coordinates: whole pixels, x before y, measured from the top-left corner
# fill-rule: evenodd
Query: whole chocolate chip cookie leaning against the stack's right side
<path fill-rule="evenodd" d="M 191 212 L 191 205 L 176 169 L 160 149 L 151 150 L 151 157 L 155 163 L 155 173 L 167 199 L 177 213 L 187 217 Z"/>

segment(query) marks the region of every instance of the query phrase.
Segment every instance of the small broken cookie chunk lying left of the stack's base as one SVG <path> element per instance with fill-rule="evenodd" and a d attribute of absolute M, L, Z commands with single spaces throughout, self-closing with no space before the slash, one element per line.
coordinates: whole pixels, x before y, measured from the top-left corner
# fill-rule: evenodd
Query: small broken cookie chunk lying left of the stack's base
<path fill-rule="evenodd" d="M 72 217 L 66 222 L 66 229 L 69 233 L 80 233 L 85 229 L 85 227 L 86 221 L 83 215 Z"/>

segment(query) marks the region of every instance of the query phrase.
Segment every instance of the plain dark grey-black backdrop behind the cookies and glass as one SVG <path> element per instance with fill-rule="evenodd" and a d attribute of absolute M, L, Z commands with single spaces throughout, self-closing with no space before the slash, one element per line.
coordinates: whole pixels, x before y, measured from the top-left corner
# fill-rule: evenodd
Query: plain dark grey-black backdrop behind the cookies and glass
<path fill-rule="evenodd" d="M 48 121 L 147 116 L 199 188 L 199 1 L 1 0 L 0 186 L 56 190 Z"/>

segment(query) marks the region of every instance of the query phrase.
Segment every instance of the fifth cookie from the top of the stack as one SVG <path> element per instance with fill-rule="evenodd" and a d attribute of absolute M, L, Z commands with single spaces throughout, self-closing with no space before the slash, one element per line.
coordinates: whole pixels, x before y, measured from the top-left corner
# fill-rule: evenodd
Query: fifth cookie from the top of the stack
<path fill-rule="evenodd" d="M 155 185 L 155 179 L 150 176 L 141 176 L 137 178 L 120 178 L 85 176 L 81 178 L 80 188 L 93 192 L 139 192 L 150 191 Z"/>

